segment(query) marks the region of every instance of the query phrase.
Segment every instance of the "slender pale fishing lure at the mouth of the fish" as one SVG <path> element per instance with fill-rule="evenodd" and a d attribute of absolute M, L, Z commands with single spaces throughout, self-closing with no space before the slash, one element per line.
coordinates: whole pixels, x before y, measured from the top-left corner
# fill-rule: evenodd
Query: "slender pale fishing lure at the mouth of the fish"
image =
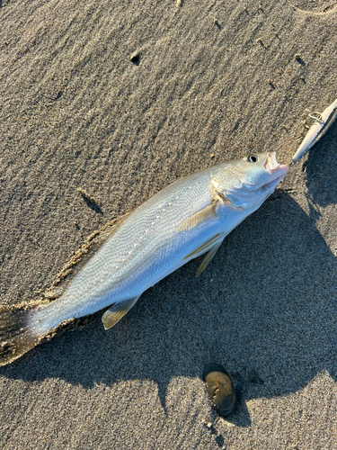
<path fill-rule="evenodd" d="M 331 127 L 333 121 L 337 117 L 337 99 L 325 108 L 324 112 L 316 112 L 317 117 L 312 114 L 310 114 L 309 117 L 315 119 L 315 122 L 306 133 L 306 137 L 302 140 L 301 145 L 297 148 L 295 155 L 291 159 L 290 166 L 293 166 L 301 159 L 301 157 L 304 157 Z"/>

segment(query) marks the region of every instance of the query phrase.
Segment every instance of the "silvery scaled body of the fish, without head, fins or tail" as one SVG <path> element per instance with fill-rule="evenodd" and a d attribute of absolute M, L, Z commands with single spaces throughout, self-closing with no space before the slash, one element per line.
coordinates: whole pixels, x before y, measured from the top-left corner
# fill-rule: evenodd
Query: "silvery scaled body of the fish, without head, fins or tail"
<path fill-rule="evenodd" d="M 211 202 L 212 170 L 214 167 L 194 174 L 192 178 L 182 178 L 139 206 L 76 275 L 54 308 L 46 307 L 43 325 L 38 322 L 41 323 L 41 316 L 32 320 L 31 325 L 41 331 L 47 330 L 56 327 L 60 321 L 81 317 L 120 299 L 140 295 L 154 277 L 189 255 L 200 245 L 208 224 L 189 234 L 177 233 L 176 229 L 191 213 Z M 175 239 L 173 235 L 176 235 Z"/>

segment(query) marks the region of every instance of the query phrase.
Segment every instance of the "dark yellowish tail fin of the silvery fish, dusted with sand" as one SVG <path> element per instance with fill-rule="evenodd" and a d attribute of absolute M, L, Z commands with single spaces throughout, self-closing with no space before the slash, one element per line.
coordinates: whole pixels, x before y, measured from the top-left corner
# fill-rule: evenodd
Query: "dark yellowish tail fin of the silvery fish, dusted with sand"
<path fill-rule="evenodd" d="M 8 365 L 40 342 L 41 336 L 30 328 L 34 307 L 17 309 L 0 306 L 0 366 Z"/>

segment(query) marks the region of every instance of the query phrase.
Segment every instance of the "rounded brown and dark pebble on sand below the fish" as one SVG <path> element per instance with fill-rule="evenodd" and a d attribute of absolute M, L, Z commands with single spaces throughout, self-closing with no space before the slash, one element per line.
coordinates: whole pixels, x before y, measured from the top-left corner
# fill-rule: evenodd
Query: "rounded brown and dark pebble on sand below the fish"
<path fill-rule="evenodd" d="M 220 416 L 228 416 L 235 407 L 235 389 L 222 365 L 206 365 L 203 379 L 214 408 Z"/>

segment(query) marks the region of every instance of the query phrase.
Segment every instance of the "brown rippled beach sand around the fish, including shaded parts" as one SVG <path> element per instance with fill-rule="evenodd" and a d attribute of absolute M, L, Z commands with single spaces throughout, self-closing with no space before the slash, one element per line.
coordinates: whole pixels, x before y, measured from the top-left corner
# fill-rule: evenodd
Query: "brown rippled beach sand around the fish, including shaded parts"
<path fill-rule="evenodd" d="M 0 6 L 3 304 L 39 298 L 94 229 L 182 175 L 288 162 L 302 114 L 337 96 L 335 0 Z M 337 123 L 199 278 L 196 260 L 115 328 L 97 313 L 2 368 L 0 447 L 336 448 L 336 141 Z M 240 399 L 226 420 L 210 362 Z"/>

